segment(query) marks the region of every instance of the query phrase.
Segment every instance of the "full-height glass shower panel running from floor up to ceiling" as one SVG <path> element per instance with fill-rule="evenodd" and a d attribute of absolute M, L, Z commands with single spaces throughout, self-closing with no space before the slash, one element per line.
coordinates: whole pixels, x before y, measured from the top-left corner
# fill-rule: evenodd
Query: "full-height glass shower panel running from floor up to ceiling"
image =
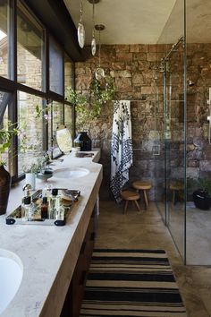
<path fill-rule="evenodd" d="M 163 111 L 165 142 L 165 224 L 185 261 L 185 61 L 184 61 L 184 0 L 176 0 L 172 13 L 157 42 L 163 46 L 158 65 L 163 73 Z M 157 204 L 159 207 L 159 204 Z"/>

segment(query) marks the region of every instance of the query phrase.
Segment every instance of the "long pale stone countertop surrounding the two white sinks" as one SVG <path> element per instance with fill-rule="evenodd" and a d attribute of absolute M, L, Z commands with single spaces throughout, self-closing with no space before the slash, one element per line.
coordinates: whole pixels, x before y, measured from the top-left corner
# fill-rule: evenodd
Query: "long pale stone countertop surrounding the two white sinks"
<path fill-rule="evenodd" d="M 95 154 L 92 158 L 76 158 L 71 153 L 63 156 L 63 163 L 55 161 L 52 166 L 57 170 L 89 169 L 87 176 L 53 176 L 47 181 L 53 187 L 80 190 L 80 199 L 74 203 L 65 226 L 6 225 L 5 215 L 0 216 L 0 247 L 18 255 L 23 265 L 21 286 L 1 317 L 60 316 L 103 177 L 102 166 L 97 164 L 100 152 L 91 152 Z M 24 183 L 11 190 L 7 214 L 20 205 Z M 45 185 L 36 180 L 36 189 Z"/>

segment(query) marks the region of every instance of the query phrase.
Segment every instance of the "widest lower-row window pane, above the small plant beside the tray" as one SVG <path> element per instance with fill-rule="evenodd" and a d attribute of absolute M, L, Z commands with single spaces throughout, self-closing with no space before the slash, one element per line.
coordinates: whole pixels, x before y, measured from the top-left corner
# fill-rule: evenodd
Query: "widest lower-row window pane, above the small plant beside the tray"
<path fill-rule="evenodd" d="M 23 91 L 18 92 L 19 175 L 30 172 L 34 164 L 43 157 L 43 100 Z M 40 109 L 40 114 L 38 110 Z"/>

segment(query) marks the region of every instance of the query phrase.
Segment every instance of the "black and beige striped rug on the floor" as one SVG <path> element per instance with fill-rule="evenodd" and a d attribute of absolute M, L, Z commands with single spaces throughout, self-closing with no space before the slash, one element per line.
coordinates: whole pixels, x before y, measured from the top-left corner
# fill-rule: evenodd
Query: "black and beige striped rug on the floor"
<path fill-rule="evenodd" d="M 95 249 L 82 316 L 187 316 L 165 251 Z"/>

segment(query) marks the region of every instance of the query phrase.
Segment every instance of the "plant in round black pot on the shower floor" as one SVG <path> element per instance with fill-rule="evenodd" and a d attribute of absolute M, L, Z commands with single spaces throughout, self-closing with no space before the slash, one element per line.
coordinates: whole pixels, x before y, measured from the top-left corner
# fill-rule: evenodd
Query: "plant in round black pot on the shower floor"
<path fill-rule="evenodd" d="M 193 201 L 200 210 L 209 210 L 211 206 L 211 181 L 207 178 L 198 180 L 198 189 L 193 192 Z"/>

